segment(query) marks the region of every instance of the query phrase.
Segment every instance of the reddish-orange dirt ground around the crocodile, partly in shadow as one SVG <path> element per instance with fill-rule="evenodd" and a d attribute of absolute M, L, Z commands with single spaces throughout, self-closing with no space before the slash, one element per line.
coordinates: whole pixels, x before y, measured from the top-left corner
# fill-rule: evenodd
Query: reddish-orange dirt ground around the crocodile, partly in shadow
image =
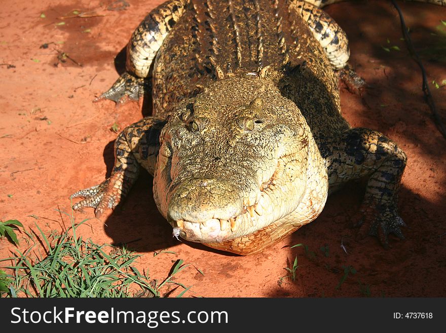
<path fill-rule="evenodd" d="M 110 174 L 117 136 L 110 128 L 123 129 L 150 113 L 150 101 L 119 108 L 92 102 L 124 69 L 117 55 L 133 29 L 162 1 L 127 2 L 2 1 L 1 220 L 18 219 L 26 230 L 36 231 L 36 224 L 46 233 L 64 230 L 69 219 L 57 210 L 71 213 L 69 195 Z M 446 8 L 399 5 L 444 120 Z M 192 264 L 177 277 L 192 285 L 185 293 L 190 297 L 445 297 L 446 140 L 424 101 L 421 72 L 401 40 L 397 12 L 386 1 L 345 2 L 326 11 L 346 30 L 350 62 L 369 85 L 362 97 L 341 86 L 345 117 L 353 127 L 385 133 L 407 153 L 399 198 L 404 241 L 391 237 L 384 250 L 376 238 L 356 240 L 352 224 L 364 190 L 352 183 L 328 198 L 315 221 L 261 254 L 214 251 L 172 237 L 147 174 L 121 207 L 88 220 L 78 233 L 98 244 L 128 244 L 142 254 L 137 268 L 151 278 L 165 278 L 179 258 Z M 94 213 L 74 216 L 80 222 Z M 300 243 L 307 251 L 291 248 Z M 0 257 L 11 249 L 0 240 Z M 175 253 L 154 256 L 163 249 Z M 284 268 L 296 257 L 293 281 Z M 356 274 L 339 285 L 345 267 Z"/>

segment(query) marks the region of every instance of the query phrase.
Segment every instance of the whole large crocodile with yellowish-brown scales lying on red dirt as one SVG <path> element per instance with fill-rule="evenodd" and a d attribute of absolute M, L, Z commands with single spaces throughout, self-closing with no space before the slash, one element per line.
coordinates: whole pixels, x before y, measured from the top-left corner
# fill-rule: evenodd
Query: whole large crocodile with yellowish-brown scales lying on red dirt
<path fill-rule="evenodd" d="M 365 178 L 358 237 L 385 248 L 390 234 L 403 239 L 406 154 L 341 114 L 337 73 L 350 51 L 321 9 L 338 1 L 169 0 L 152 10 L 127 45 L 126 72 L 99 98 L 122 103 L 152 89 L 153 115 L 118 135 L 111 176 L 73 194 L 84 198 L 73 209 L 115 208 L 142 167 L 173 236 L 247 255 Z"/>

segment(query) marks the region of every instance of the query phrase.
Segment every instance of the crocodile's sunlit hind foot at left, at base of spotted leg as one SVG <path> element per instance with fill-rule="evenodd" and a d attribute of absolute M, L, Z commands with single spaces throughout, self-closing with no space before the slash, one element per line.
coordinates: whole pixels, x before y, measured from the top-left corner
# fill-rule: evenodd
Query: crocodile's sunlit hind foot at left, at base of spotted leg
<path fill-rule="evenodd" d="M 124 104 L 127 100 L 139 100 L 144 95 L 144 89 L 143 78 L 137 78 L 129 72 L 125 72 L 116 80 L 112 88 L 108 89 L 93 101 L 97 102 L 105 98 L 113 100 L 117 104 Z"/>

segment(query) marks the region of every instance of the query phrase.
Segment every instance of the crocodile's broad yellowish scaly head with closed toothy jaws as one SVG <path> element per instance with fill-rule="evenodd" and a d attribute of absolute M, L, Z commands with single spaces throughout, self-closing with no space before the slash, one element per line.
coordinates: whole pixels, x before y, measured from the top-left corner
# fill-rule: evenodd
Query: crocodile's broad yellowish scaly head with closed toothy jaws
<path fill-rule="evenodd" d="M 267 80 L 215 82 L 178 106 L 160 142 L 154 197 L 175 236 L 224 243 L 289 225 L 298 211 L 295 230 L 325 203 L 307 207 L 326 198 L 315 193 L 326 192 L 325 171 L 311 167 L 319 151 L 298 107 Z"/>

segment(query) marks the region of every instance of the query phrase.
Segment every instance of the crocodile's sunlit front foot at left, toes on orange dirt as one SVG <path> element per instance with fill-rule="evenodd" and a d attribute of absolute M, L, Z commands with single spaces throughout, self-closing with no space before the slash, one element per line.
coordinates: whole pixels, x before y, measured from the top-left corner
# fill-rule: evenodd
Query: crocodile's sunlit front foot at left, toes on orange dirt
<path fill-rule="evenodd" d="M 119 204 L 122 198 L 121 189 L 122 178 L 112 176 L 99 185 L 73 193 L 70 199 L 85 198 L 74 204 L 73 209 L 92 207 L 95 209 L 95 216 L 99 218 L 106 209 L 114 209 Z"/>

